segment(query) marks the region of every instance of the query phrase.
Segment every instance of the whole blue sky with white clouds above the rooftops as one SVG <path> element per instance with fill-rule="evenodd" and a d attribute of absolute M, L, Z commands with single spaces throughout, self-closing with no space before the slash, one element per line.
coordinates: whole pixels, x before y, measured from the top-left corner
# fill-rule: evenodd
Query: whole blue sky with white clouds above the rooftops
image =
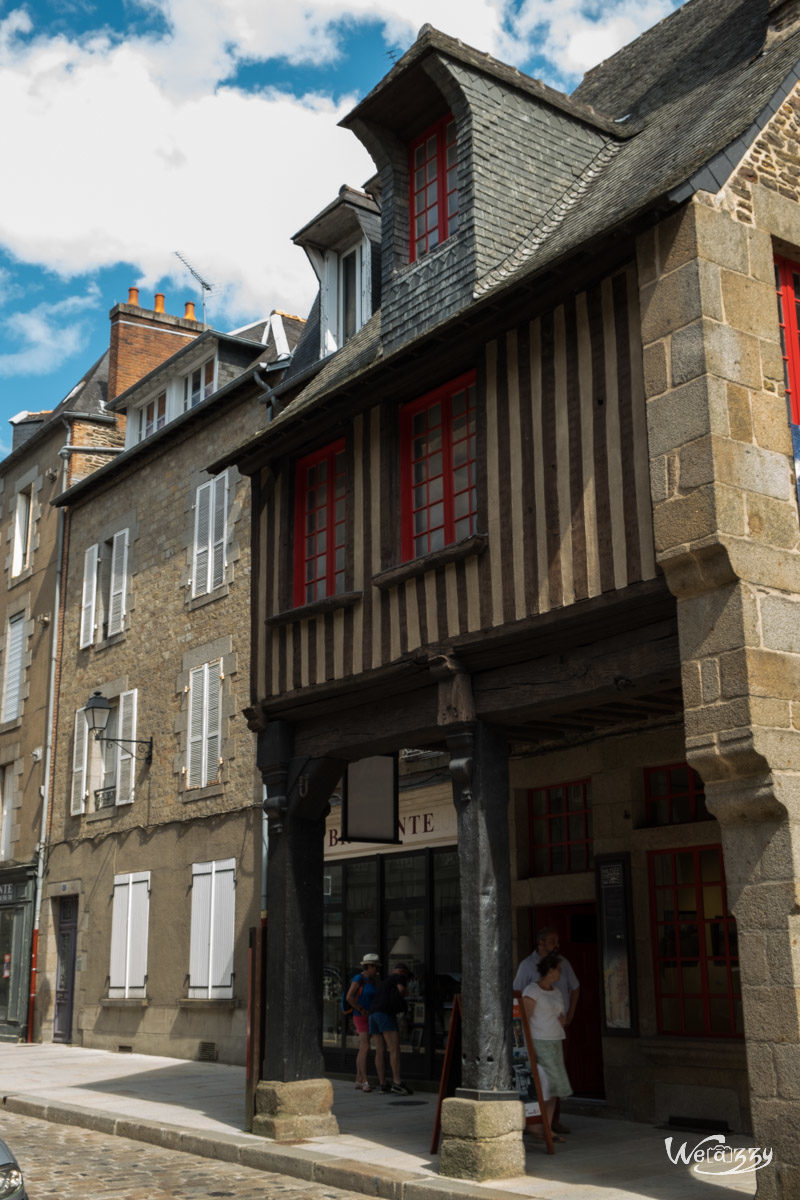
<path fill-rule="evenodd" d="M 429 22 L 571 90 L 678 0 L 0 0 L 0 455 L 140 288 L 207 319 L 305 316 L 290 236 L 372 174 L 338 119 Z M 199 314 L 199 304 L 198 304 Z"/>

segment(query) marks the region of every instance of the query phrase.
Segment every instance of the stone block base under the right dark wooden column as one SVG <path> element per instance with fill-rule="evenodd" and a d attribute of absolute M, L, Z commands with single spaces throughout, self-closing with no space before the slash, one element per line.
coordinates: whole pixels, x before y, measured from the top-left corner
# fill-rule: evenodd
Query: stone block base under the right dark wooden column
<path fill-rule="evenodd" d="M 444 1100 L 439 1174 L 477 1181 L 524 1175 L 524 1123 L 521 1100 Z"/>

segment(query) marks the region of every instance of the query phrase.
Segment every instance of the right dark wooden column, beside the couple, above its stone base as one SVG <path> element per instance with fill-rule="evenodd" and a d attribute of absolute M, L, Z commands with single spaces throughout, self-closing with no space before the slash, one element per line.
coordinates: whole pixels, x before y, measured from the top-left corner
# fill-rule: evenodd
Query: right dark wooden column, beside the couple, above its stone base
<path fill-rule="evenodd" d="M 447 738 L 458 816 L 462 937 L 462 1087 L 465 1099 L 511 1091 L 512 977 L 509 755 L 476 721 Z"/>

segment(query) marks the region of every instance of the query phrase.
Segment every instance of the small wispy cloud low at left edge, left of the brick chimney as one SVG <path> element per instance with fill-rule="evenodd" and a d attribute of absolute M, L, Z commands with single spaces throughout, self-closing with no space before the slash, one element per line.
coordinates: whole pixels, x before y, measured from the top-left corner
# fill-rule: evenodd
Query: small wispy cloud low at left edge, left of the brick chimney
<path fill-rule="evenodd" d="M 0 328 L 4 341 L 20 343 L 18 350 L 0 354 L 0 376 L 48 374 L 83 349 L 86 343 L 88 319 L 96 319 L 100 289 L 90 284 L 84 295 L 67 296 L 54 304 L 47 301 L 28 312 L 16 312 Z M 0 446 L 0 450 L 2 448 Z"/>

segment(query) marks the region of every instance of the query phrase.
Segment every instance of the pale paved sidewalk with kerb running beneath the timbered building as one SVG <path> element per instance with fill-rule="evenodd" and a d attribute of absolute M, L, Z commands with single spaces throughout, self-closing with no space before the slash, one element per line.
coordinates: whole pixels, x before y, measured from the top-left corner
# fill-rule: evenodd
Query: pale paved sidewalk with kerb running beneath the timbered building
<path fill-rule="evenodd" d="M 756 1193 L 752 1172 L 700 1176 L 674 1165 L 664 1150 L 663 1129 L 572 1114 L 567 1118 L 572 1134 L 554 1156 L 539 1146 L 529 1148 L 527 1175 L 495 1183 L 446 1180 L 428 1153 L 434 1096 L 365 1094 L 343 1081 L 335 1081 L 333 1090 L 339 1135 L 278 1146 L 242 1132 L 241 1067 L 0 1043 L 0 1099 L 11 1112 L 387 1200 L 741 1200 Z M 673 1147 L 686 1142 L 692 1150 L 700 1138 L 673 1134 Z M 747 1140 L 729 1138 L 728 1145 L 746 1146 Z"/>

